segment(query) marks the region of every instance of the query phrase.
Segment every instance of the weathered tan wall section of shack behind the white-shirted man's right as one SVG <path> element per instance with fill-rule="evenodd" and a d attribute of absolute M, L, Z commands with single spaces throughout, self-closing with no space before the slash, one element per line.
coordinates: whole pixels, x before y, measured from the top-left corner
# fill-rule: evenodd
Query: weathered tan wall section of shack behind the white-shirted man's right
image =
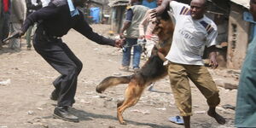
<path fill-rule="evenodd" d="M 240 69 L 247 51 L 249 23 L 243 20 L 243 7 L 231 3 L 227 67 Z"/>

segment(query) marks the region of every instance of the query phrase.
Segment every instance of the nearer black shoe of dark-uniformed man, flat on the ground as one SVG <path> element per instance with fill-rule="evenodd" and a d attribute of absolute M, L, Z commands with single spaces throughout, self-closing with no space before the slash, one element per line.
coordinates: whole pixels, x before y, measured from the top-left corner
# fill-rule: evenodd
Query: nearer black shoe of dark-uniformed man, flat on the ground
<path fill-rule="evenodd" d="M 72 113 L 69 113 L 67 110 L 67 107 L 55 108 L 53 117 L 55 119 L 63 119 L 65 121 L 70 121 L 70 122 L 79 122 L 79 118 L 73 115 Z"/>

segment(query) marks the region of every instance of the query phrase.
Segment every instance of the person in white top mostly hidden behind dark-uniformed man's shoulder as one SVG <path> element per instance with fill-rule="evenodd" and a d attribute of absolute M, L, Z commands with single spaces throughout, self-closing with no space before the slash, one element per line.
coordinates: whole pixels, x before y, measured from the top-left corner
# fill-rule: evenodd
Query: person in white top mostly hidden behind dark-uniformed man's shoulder
<path fill-rule="evenodd" d="M 26 0 L 26 16 L 32 14 L 38 9 L 42 8 L 41 0 Z M 26 31 L 26 48 L 31 49 L 31 36 L 32 36 L 32 29 L 35 26 L 30 26 Z"/>

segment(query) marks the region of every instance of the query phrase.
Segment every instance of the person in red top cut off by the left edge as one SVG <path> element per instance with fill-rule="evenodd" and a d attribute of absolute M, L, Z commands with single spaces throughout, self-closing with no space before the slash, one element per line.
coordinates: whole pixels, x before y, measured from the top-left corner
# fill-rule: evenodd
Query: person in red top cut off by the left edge
<path fill-rule="evenodd" d="M 0 0 L 0 49 L 3 39 L 9 36 L 10 0 Z"/>

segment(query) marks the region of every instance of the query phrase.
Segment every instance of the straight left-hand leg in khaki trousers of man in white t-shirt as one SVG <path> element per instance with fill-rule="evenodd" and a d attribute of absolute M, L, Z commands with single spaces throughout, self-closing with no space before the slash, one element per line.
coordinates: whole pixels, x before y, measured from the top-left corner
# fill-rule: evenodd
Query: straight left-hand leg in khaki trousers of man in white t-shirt
<path fill-rule="evenodd" d="M 172 93 L 178 110 L 183 116 L 185 128 L 190 127 L 192 115 L 191 90 L 188 74 L 183 65 L 172 63 L 168 67 L 168 75 L 171 81 Z"/>

